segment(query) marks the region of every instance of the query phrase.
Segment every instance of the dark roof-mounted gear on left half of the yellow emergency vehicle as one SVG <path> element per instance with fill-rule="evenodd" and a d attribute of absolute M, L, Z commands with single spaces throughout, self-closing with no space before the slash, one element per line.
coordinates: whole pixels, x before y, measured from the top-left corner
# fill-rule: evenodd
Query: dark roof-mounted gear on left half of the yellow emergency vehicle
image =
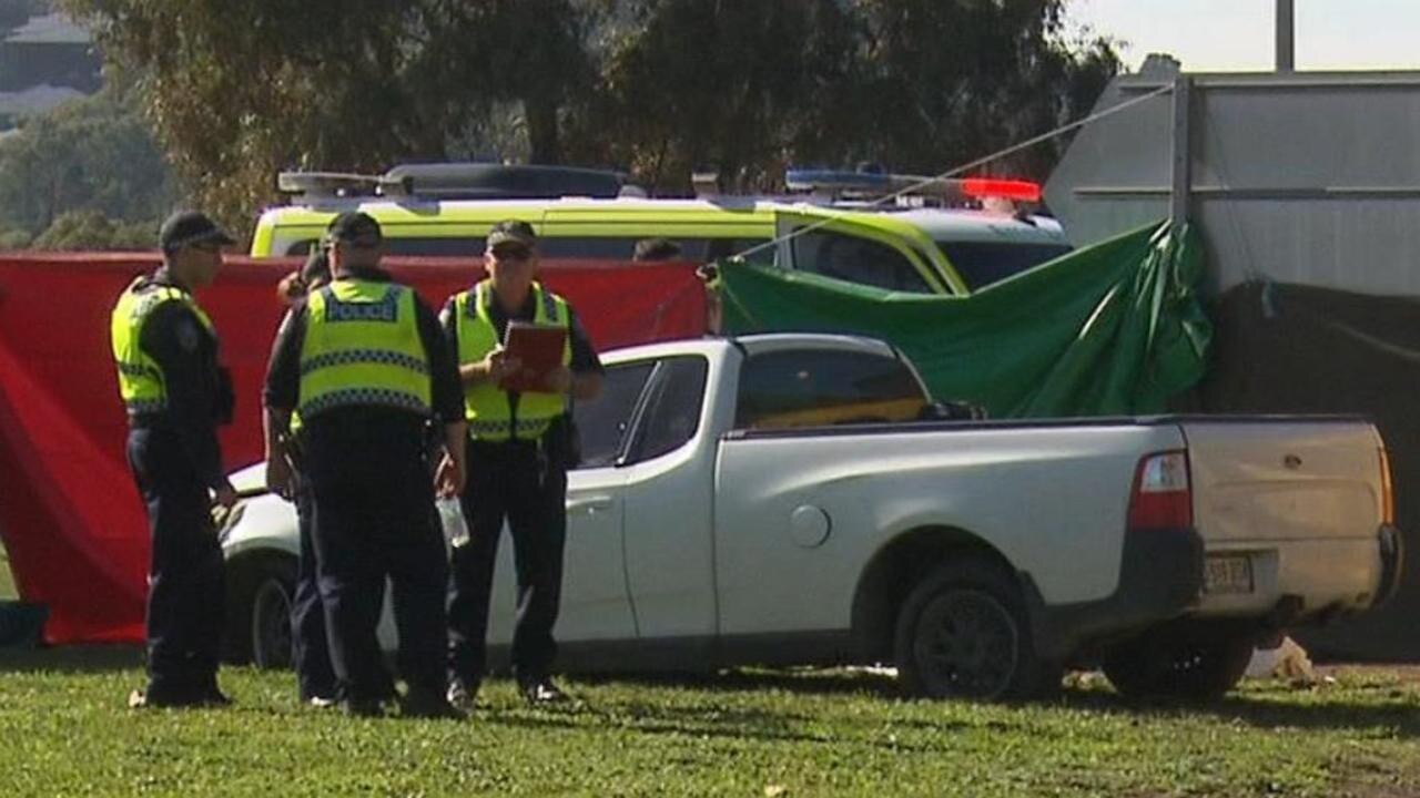
<path fill-rule="evenodd" d="M 281 172 L 281 193 L 311 197 L 416 196 L 420 199 L 616 197 L 626 176 L 605 169 L 504 163 L 400 163 L 385 175 Z"/>

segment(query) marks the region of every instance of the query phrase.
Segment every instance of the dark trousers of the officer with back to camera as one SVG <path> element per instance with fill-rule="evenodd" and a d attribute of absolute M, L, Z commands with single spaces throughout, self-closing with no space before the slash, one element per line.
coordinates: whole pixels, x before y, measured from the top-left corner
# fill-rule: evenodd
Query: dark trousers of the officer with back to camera
<path fill-rule="evenodd" d="M 449 571 L 433 524 L 422 420 L 393 410 L 332 410 L 310 419 L 307 432 L 311 531 L 339 696 L 378 701 L 393 694 L 375 636 L 386 578 L 400 676 L 412 692 L 442 696 Z"/>

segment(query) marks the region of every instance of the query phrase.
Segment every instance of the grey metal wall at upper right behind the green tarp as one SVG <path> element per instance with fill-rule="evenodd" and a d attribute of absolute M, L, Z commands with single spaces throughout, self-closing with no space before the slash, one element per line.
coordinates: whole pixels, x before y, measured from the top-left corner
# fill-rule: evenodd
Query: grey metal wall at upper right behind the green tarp
<path fill-rule="evenodd" d="M 1103 111 L 1173 84 L 1152 60 Z M 1193 74 L 1189 216 L 1214 288 L 1250 278 L 1420 295 L 1420 72 Z M 1169 216 L 1163 94 L 1081 129 L 1045 196 L 1075 243 Z"/>

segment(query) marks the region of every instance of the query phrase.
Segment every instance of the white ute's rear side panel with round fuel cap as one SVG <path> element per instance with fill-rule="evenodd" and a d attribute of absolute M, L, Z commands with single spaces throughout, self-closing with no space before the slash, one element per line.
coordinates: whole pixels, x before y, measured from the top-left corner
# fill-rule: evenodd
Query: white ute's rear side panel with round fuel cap
<path fill-rule="evenodd" d="M 721 632 L 843 629 L 858 578 L 893 537 L 957 528 L 1028 571 L 1048 603 L 1110 595 L 1127 487 L 1174 427 L 1022 426 L 726 440 L 717 476 Z M 1118 497 L 1100 505 L 1102 497 Z M 795 542 L 821 508 L 828 538 Z M 1088 559 L 1089 568 L 1079 564 Z"/>

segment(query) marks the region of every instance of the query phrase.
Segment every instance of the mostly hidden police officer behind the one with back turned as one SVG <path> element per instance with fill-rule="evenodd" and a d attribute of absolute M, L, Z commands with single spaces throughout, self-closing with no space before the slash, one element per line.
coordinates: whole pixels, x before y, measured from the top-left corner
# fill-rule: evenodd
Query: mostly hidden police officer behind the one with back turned
<path fill-rule="evenodd" d="M 297 304 L 311 291 L 320 291 L 331 281 L 331 261 L 325 250 L 317 250 L 300 271 L 281 281 L 278 294 L 287 304 Z M 294 496 L 301 557 L 295 569 L 295 589 L 291 596 L 291 659 L 301 703 L 314 707 L 335 704 L 335 670 L 331 669 L 329 646 L 325 642 L 325 606 L 315 572 L 315 544 L 311 538 L 311 480 L 302 476 L 301 416 L 291 413 L 287 456 L 295 470 Z"/>

